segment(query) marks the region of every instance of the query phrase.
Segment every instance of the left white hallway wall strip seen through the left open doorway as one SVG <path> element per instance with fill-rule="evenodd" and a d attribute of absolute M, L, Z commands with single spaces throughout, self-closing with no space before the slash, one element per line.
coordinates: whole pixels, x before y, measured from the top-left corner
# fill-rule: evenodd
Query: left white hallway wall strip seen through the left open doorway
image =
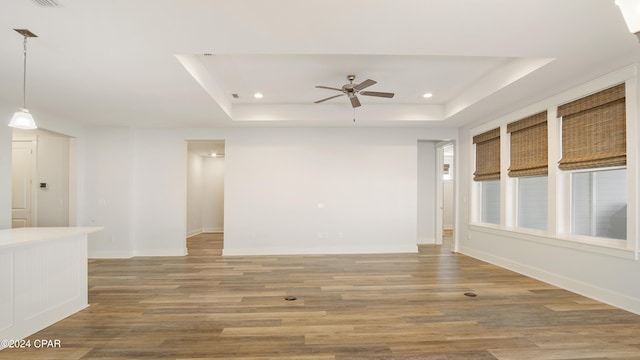
<path fill-rule="evenodd" d="M 202 232 L 203 158 L 187 153 L 187 237 Z"/>

